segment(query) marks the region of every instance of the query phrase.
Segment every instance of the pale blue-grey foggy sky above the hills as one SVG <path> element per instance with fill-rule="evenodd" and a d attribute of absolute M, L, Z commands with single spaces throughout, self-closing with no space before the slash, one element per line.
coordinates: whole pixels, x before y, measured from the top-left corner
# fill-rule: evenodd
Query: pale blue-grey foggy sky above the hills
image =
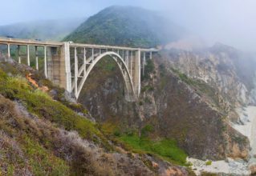
<path fill-rule="evenodd" d="M 112 5 L 161 11 L 205 38 L 256 50 L 256 0 L 0 0 L 0 25 L 39 19 L 85 18 Z"/>

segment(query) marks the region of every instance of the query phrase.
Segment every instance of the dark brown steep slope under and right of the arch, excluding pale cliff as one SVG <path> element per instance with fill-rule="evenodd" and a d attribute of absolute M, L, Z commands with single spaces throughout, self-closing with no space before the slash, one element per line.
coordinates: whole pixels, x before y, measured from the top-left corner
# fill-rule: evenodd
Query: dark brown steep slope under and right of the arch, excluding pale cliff
<path fill-rule="evenodd" d="M 190 157 L 246 159 L 248 139 L 230 126 L 226 114 L 214 108 L 217 90 L 172 70 L 170 58 L 161 55 L 154 58 L 154 66 L 148 60 L 138 102 L 125 102 L 119 70 L 104 70 L 107 62 L 91 73 L 79 102 L 97 121 L 112 124 L 112 133 L 121 137 L 137 131 L 156 141 L 174 138 Z M 99 72 L 104 74 L 99 77 Z"/>

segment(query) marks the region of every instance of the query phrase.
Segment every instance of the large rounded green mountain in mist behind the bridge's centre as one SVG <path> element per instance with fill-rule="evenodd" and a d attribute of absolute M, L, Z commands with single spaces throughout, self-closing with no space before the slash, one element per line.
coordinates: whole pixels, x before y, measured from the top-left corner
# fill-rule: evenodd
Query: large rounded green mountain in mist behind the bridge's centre
<path fill-rule="evenodd" d="M 111 6 L 83 22 L 65 41 L 155 47 L 185 35 L 185 29 L 151 10 Z"/>

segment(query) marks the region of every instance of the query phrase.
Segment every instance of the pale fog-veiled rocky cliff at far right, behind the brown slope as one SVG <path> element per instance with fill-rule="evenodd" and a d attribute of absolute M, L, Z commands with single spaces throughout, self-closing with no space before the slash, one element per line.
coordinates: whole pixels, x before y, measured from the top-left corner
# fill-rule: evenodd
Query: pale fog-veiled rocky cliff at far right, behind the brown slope
<path fill-rule="evenodd" d="M 208 93 L 212 104 L 230 120 L 238 118 L 234 114 L 237 107 L 255 104 L 253 56 L 221 43 L 204 51 L 172 50 L 163 55 L 183 80 L 188 81 L 187 76 L 213 87 L 215 93 Z"/>

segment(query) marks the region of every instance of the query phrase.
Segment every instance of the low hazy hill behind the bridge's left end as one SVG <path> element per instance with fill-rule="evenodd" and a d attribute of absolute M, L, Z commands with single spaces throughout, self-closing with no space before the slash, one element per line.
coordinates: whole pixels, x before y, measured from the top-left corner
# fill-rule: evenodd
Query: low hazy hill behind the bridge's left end
<path fill-rule="evenodd" d="M 0 36 L 14 38 L 32 38 L 41 40 L 62 40 L 78 27 L 84 18 L 42 20 L 35 22 L 21 22 L 0 26 Z"/>

